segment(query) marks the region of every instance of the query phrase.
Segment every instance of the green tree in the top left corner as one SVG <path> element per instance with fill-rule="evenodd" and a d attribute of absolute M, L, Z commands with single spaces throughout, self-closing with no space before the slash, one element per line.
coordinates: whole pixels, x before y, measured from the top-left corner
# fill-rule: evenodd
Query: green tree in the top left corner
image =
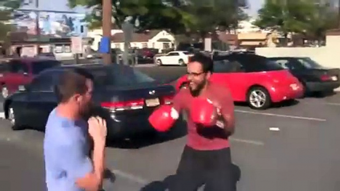
<path fill-rule="evenodd" d="M 8 32 L 12 25 L 8 21 L 12 18 L 14 9 L 20 6 L 21 0 L 0 0 L 0 42 L 8 40 Z"/>

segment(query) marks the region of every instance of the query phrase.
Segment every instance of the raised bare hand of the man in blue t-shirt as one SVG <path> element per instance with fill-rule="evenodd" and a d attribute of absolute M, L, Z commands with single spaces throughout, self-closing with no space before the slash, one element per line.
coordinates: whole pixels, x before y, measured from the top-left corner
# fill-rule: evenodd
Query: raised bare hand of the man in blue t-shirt
<path fill-rule="evenodd" d="M 107 136 L 106 121 L 101 117 L 90 117 L 87 122 L 89 124 L 89 134 L 94 143 L 105 143 Z"/>

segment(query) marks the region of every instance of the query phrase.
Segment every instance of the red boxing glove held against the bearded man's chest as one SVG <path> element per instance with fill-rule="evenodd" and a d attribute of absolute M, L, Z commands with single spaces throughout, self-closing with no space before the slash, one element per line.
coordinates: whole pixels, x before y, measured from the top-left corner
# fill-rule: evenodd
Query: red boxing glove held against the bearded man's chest
<path fill-rule="evenodd" d="M 217 122 L 217 108 L 207 98 L 196 97 L 190 108 L 190 116 L 194 123 L 203 126 L 214 126 Z"/>

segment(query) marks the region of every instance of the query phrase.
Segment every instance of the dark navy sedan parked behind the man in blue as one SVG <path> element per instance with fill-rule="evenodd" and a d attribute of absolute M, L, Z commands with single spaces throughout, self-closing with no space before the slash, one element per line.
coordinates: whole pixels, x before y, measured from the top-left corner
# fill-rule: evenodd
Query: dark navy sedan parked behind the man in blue
<path fill-rule="evenodd" d="M 54 87 L 58 76 L 73 66 L 48 69 L 35 77 L 25 90 L 6 98 L 5 118 L 13 130 L 34 128 L 45 130 L 50 112 L 57 106 Z M 134 134 L 154 132 L 148 117 L 155 107 L 169 104 L 174 88 L 125 65 L 83 66 L 94 77 L 93 115 L 107 120 L 108 137 L 127 138 Z"/>

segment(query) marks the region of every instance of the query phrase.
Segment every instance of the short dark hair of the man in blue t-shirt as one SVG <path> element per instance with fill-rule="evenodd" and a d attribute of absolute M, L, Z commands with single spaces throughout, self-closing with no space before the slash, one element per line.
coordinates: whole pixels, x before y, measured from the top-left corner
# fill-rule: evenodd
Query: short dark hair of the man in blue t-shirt
<path fill-rule="evenodd" d="M 58 79 L 55 87 L 58 102 L 66 102 L 75 94 L 85 94 L 87 91 L 86 80 L 93 81 L 93 75 L 83 68 L 65 70 Z"/>

